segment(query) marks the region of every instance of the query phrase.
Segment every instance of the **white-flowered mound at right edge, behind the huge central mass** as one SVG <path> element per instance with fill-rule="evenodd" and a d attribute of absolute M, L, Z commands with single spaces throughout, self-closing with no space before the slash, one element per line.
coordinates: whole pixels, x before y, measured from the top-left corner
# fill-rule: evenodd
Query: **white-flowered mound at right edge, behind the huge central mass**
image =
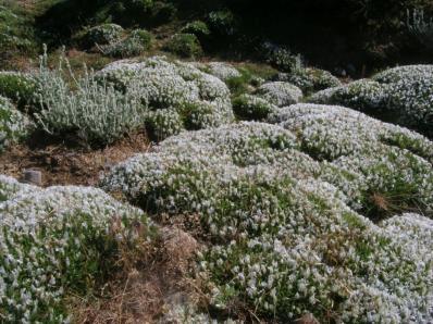
<path fill-rule="evenodd" d="M 311 102 L 347 105 L 432 137 L 432 89 L 433 66 L 408 65 L 318 92 Z"/>

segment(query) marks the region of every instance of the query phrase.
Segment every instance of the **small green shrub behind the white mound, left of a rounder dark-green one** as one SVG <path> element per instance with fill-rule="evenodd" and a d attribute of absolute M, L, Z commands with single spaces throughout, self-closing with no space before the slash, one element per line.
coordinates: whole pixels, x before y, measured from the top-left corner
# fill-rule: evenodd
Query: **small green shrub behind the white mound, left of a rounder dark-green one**
<path fill-rule="evenodd" d="M 145 29 L 135 29 L 126 38 L 100 47 L 102 53 L 114 58 L 131 58 L 143 54 L 152 45 L 152 35 Z"/>

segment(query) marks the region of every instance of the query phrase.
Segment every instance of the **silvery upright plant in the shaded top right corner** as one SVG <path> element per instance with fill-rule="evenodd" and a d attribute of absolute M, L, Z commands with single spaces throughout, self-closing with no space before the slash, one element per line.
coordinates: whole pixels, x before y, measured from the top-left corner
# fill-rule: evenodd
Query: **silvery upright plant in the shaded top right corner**
<path fill-rule="evenodd" d="M 406 25 L 411 35 L 433 51 L 433 17 L 428 18 L 423 10 L 408 10 Z"/>

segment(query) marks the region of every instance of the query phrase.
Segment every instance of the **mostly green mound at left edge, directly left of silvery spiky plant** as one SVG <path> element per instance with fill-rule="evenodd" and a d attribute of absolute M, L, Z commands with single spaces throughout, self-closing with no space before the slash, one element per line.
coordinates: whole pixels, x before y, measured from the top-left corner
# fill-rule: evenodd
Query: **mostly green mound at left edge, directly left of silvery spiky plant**
<path fill-rule="evenodd" d="M 30 74 L 0 71 L 0 96 L 10 98 L 20 108 L 34 103 L 36 79 Z"/>

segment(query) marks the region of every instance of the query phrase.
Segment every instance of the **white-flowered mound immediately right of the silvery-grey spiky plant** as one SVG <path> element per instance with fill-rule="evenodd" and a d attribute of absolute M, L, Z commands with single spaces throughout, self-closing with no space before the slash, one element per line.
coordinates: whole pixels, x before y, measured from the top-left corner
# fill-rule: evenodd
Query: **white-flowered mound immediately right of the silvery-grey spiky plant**
<path fill-rule="evenodd" d="M 161 57 L 140 63 L 121 61 L 108 65 L 98 77 L 125 94 L 131 88 L 139 92 L 146 125 L 156 139 L 234 120 L 226 85 L 189 63 Z"/>

